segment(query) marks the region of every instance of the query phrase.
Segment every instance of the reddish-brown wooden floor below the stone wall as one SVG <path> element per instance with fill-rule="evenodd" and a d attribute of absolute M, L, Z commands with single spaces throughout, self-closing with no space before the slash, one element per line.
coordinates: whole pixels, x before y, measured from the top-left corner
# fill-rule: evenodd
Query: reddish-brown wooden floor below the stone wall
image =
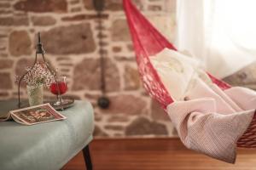
<path fill-rule="evenodd" d="M 256 170 L 256 150 L 239 149 L 233 165 L 187 150 L 178 139 L 96 139 L 90 154 L 95 170 Z M 63 167 L 80 169 L 81 152 Z"/>

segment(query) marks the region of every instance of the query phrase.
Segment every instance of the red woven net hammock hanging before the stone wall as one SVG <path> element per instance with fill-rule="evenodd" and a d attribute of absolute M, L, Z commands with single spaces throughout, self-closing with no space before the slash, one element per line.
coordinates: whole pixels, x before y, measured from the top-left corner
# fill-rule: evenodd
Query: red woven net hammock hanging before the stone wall
<path fill-rule="evenodd" d="M 160 81 L 160 77 L 150 63 L 149 56 L 159 53 L 164 48 L 177 49 L 149 23 L 143 14 L 131 3 L 131 0 L 123 0 L 123 4 L 131 31 L 133 46 L 137 55 L 138 71 L 140 72 L 143 86 L 148 91 L 148 94 L 156 99 L 166 110 L 166 106 L 171 104 L 173 99 L 168 94 L 164 84 Z M 230 85 L 226 82 L 218 80 L 209 73 L 208 76 L 219 88 L 230 88 Z M 237 146 L 256 147 L 256 114 L 250 126 L 247 128 L 247 132 L 238 140 Z"/>

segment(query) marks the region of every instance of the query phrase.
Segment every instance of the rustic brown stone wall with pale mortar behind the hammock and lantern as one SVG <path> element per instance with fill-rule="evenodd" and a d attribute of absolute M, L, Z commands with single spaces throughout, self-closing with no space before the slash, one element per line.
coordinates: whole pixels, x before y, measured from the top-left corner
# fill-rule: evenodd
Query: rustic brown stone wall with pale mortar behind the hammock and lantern
<path fill-rule="evenodd" d="M 91 0 L 1 0 L 0 99 L 17 97 L 15 75 L 32 65 L 36 34 L 46 58 L 67 77 L 68 93 L 95 106 L 97 137 L 176 135 L 172 123 L 143 90 L 121 0 L 106 0 L 102 45 L 107 51 L 108 110 L 96 106 L 101 95 L 98 24 Z M 137 7 L 173 41 L 175 0 L 134 0 Z M 26 98 L 26 89 L 21 90 Z M 45 90 L 45 97 L 52 97 Z"/>

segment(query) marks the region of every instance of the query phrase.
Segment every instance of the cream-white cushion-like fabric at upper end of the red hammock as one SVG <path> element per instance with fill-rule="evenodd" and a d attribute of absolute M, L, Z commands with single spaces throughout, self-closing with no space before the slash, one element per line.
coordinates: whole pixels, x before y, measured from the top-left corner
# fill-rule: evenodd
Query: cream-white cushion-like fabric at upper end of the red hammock
<path fill-rule="evenodd" d="M 199 62 L 168 48 L 149 59 L 172 98 L 182 99 Z"/>

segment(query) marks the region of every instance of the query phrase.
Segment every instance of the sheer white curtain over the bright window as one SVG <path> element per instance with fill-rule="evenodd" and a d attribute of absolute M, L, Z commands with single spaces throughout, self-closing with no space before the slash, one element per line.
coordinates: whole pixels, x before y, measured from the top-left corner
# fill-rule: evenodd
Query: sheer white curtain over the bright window
<path fill-rule="evenodd" d="M 255 0 L 177 0 L 177 48 L 223 78 L 256 59 Z"/>

